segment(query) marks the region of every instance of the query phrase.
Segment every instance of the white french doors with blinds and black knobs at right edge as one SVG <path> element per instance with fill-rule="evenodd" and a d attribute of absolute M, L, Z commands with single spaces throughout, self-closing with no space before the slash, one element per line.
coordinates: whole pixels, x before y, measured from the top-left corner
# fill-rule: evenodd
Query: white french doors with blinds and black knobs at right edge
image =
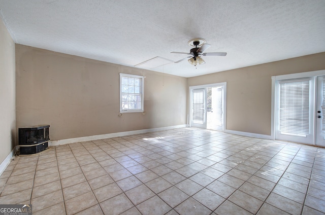
<path fill-rule="evenodd" d="M 276 82 L 276 139 L 325 146 L 324 77 Z"/>

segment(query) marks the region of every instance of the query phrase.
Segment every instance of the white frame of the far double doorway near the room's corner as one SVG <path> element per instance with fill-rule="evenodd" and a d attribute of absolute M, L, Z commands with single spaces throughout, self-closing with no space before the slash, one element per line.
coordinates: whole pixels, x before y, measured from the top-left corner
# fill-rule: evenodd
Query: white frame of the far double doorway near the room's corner
<path fill-rule="evenodd" d="M 188 126 L 192 127 L 191 121 L 192 121 L 192 90 L 193 89 L 202 89 L 202 88 L 209 88 L 209 87 L 220 87 L 223 86 L 224 90 L 224 112 L 223 112 L 223 131 L 226 128 L 226 96 L 227 96 L 227 82 L 220 82 L 220 83 L 214 83 L 214 84 L 205 84 L 205 85 L 196 85 L 196 86 L 190 86 L 189 87 L 189 105 L 188 105 Z M 207 95 L 206 95 L 207 96 Z M 205 99 L 206 100 L 206 99 Z M 205 119 L 207 119 L 207 105 L 205 105 Z M 205 123 L 205 128 L 206 128 L 206 123 Z"/>

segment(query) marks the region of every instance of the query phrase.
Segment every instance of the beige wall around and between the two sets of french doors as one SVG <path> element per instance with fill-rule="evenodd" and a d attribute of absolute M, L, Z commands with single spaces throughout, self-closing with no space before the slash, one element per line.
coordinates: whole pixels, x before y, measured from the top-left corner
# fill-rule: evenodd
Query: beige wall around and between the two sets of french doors
<path fill-rule="evenodd" d="M 325 69 L 325 52 L 188 78 L 188 86 L 227 82 L 226 129 L 271 134 L 272 76 Z"/>

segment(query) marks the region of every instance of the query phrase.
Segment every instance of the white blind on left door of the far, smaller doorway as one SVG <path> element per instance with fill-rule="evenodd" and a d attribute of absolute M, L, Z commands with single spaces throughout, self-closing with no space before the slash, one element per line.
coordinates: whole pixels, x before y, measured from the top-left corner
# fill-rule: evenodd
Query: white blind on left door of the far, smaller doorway
<path fill-rule="evenodd" d="M 205 93 L 204 89 L 195 89 L 192 92 L 192 121 L 193 123 L 203 124 L 204 123 L 204 102 Z"/>

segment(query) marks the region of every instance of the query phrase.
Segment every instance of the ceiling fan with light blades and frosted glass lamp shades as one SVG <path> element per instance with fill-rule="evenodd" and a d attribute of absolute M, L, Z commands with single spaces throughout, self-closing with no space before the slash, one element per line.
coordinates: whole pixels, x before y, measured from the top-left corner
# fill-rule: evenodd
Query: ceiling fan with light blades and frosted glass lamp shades
<path fill-rule="evenodd" d="M 183 59 L 180 59 L 178 61 L 176 61 L 175 63 L 179 63 L 183 60 L 186 60 L 187 58 L 189 58 L 187 61 L 194 65 L 197 66 L 197 64 L 204 64 L 205 61 L 202 59 L 202 57 L 200 57 L 200 55 L 203 56 L 226 56 L 226 52 L 208 52 L 208 53 L 203 53 L 205 50 L 207 50 L 208 48 L 210 48 L 210 44 L 207 44 L 206 41 L 202 38 L 196 38 L 196 39 L 192 39 L 190 41 L 188 41 L 188 45 L 195 47 L 192 48 L 189 53 L 187 52 L 171 52 L 174 54 L 188 54 L 190 56 L 185 57 Z M 199 46 L 199 47 L 198 47 Z"/>

